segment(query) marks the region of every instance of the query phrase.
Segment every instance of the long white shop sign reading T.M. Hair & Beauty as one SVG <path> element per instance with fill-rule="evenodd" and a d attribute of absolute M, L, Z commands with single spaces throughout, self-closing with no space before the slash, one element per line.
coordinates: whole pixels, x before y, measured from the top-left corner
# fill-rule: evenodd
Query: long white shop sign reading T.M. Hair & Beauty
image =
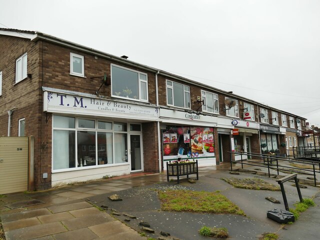
<path fill-rule="evenodd" d="M 95 97 L 44 91 L 43 110 L 131 119 L 158 119 L 158 108 Z"/>

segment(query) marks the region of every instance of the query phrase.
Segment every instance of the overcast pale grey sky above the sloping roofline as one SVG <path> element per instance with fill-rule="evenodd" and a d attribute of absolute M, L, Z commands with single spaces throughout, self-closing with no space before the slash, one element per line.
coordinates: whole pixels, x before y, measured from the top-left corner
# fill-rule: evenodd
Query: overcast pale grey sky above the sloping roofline
<path fill-rule="evenodd" d="M 0 0 L 0 27 L 127 55 L 320 126 L 319 0 Z"/>

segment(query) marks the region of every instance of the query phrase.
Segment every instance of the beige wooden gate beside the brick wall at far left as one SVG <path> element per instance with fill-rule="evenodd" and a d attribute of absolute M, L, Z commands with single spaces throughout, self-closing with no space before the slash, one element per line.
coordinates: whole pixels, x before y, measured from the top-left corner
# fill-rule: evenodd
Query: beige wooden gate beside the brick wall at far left
<path fill-rule="evenodd" d="M 33 137 L 0 137 L 0 194 L 33 190 L 30 142 L 33 143 Z"/>

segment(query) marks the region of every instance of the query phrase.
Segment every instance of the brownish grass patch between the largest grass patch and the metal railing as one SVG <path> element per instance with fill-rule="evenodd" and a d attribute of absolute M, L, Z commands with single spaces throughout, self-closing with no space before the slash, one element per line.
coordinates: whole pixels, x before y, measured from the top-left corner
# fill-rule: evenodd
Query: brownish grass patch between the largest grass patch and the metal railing
<path fill-rule="evenodd" d="M 270 190 L 279 191 L 280 187 L 274 184 L 268 183 L 260 178 L 221 178 L 230 185 L 237 188 L 254 189 L 254 190 Z"/>

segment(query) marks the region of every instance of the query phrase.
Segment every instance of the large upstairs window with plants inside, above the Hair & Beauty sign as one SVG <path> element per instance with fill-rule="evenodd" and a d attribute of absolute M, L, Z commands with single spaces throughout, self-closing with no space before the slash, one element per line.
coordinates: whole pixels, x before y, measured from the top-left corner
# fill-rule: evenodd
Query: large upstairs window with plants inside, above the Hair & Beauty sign
<path fill-rule="evenodd" d="M 147 74 L 111 65 L 112 96 L 132 100 L 148 100 Z"/>

